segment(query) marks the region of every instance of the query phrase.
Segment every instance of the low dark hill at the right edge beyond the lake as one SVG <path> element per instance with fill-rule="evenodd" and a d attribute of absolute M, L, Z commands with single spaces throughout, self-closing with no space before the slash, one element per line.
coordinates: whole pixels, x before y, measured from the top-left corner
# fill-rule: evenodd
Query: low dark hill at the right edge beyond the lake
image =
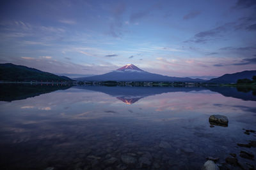
<path fill-rule="evenodd" d="M 241 71 L 233 74 L 224 74 L 218 78 L 212 78 L 206 81 L 206 83 L 236 83 L 238 79 L 248 78 L 252 80 L 252 77 L 256 75 L 256 70 Z"/>

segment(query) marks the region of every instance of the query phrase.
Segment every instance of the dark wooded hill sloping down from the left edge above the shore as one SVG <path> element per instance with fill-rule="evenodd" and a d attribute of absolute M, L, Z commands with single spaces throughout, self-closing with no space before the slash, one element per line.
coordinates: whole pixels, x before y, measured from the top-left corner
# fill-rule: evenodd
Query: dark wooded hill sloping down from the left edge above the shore
<path fill-rule="evenodd" d="M 12 63 L 0 64 L 0 81 L 73 81 L 35 68 Z"/>

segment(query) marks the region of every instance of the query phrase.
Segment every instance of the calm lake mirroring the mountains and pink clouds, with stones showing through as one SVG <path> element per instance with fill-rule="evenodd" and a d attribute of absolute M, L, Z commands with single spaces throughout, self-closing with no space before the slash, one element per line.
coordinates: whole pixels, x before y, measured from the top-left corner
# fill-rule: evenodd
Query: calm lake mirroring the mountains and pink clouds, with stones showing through
<path fill-rule="evenodd" d="M 256 167 L 256 96 L 236 87 L 1 84 L 1 169 L 200 169 L 207 157 Z M 254 94 L 254 95 L 253 95 Z M 210 127 L 209 117 L 228 118 Z M 239 167 L 237 167 L 239 169 Z"/>

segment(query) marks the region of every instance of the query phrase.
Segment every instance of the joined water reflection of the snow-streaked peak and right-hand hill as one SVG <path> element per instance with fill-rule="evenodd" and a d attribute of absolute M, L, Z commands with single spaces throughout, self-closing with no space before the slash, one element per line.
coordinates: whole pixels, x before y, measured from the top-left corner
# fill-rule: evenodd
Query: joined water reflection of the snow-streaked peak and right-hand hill
<path fill-rule="evenodd" d="M 191 92 L 201 90 L 211 90 L 218 92 L 226 97 L 234 97 L 245 101 L 256 101 L 256 96 L 252 95 L 252 91 L 237 91 L 236 87 L 106 87 L 106 86 L 77 86 L 77 89 L 92 90 L 102 92 L 110 96 L 116 97 L 126 104 L 133 104 L 143 97 L 163 94 L 168 92 Z"/>

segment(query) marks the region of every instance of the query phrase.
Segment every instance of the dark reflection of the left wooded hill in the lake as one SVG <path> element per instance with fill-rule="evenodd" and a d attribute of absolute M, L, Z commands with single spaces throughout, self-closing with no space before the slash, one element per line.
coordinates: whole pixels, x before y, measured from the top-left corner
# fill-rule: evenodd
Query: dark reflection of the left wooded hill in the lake
<path fill-rule="evenodd" d="M 0 101 L 17 101 L 40 96 L 56 90 L 65 90 L 70 85 L 61 84 L 0 84 Z"/>

